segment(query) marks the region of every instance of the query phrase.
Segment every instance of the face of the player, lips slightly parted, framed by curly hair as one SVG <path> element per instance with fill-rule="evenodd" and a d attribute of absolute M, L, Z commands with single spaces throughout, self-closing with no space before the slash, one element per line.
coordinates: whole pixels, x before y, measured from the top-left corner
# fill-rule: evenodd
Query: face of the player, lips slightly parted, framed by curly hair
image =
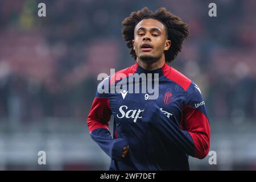
<path fill-rule="evenodd" d="M 171 46 L 166 34 L 166 28 L 158 20 L 141 20 L 134 28 L 133 46 L 137 57 L 142 61 L 159 60 Z"/>

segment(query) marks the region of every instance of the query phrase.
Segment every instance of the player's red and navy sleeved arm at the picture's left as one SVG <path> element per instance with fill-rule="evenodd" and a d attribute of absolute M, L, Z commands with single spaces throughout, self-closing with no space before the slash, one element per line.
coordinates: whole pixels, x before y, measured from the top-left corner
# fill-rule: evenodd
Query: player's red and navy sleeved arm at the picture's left
<path fill-rule="evenodd" d="M 97 92 L 87 117 L 90 136 L 110 158 L 121 160 L 123 148 L 128 144 L 122 138 L 113 139 L 111 137 L 109 131 L 111 115 L 109 98 L 106 94 L 99 94 Z"/>

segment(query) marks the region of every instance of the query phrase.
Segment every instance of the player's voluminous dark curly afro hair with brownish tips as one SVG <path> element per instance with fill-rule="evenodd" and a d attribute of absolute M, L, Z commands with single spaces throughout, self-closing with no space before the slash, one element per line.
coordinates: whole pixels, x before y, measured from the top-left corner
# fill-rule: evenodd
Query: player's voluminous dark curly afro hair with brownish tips
<path fill-rule="evenodd" d="M 127 47 L 130 49 L 130 55 L 134 57 L 135 60 L 137 59 L 137 55 L 133 49 L 132 43 L 134 39 L 134 28 L 143 19 L 156 19 L 166 27 L 167 39 L 171 40 L 171 47 L 164 52 L 164 56 L 166 61 L 171 63 L 181 51 L 183 40 L 187 40 L 190 35 L 188 30 L 189 26 L 178 16 L 167 11 L 165 7 L 161 7 L 155 12 L 152 12 L 147 7 L 143 7 L 143 9 L 139 11 L 133 11 L 130 16 L 125 18 L 122 22 L 122 34 L 123 39 L 127 42 Z"/>

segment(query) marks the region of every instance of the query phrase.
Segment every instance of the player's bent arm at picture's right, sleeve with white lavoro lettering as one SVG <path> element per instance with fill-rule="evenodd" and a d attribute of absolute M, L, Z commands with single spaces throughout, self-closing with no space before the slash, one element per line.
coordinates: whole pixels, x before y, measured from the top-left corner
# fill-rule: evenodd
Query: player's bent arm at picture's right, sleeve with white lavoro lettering
<path fill-rule="evenodd" d="M 142 121 L 148 122 L 152 129 L 162 135 L 163 139 L 175 144 L 181 152 L 203 159 L 209 151 L 210 127 L 205 114 L 205 105 L 201 105 L 201 108 L 193 105 L 201 101 L 203 100 L 199 90 L 193 89 L 193 92 L 188 94 L 188 102 L 183 108 L 184 130 L 167 118 L 155 102 L 146 105 Z"/>

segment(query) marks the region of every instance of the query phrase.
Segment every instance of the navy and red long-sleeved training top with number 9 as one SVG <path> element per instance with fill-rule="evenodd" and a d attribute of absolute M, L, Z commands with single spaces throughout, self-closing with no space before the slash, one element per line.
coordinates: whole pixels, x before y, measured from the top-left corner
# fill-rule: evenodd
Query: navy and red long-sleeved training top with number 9
<path fill-rule="evenodd" d="M 199 159 L 207 156 L 210 126 L 195 82 L 168 64 L 147 71 L 135 63 L 106 78 L 99 86 L 117 85 L 122 80 L 118 73 L 123 73 L 127 80 L 134 73 L 158 74 L 159 95 L 156 100 L 148 100 L 145 93 L 126 90 L 96 92 L 87 124 L 92 139 L 112 159 L 110 170 L 188 170 L 189 155 Z M 109 131 L 111 115 L 113 137 Z M 129 152 L 122 159 L 124 146 L 129 146 Z"/>

